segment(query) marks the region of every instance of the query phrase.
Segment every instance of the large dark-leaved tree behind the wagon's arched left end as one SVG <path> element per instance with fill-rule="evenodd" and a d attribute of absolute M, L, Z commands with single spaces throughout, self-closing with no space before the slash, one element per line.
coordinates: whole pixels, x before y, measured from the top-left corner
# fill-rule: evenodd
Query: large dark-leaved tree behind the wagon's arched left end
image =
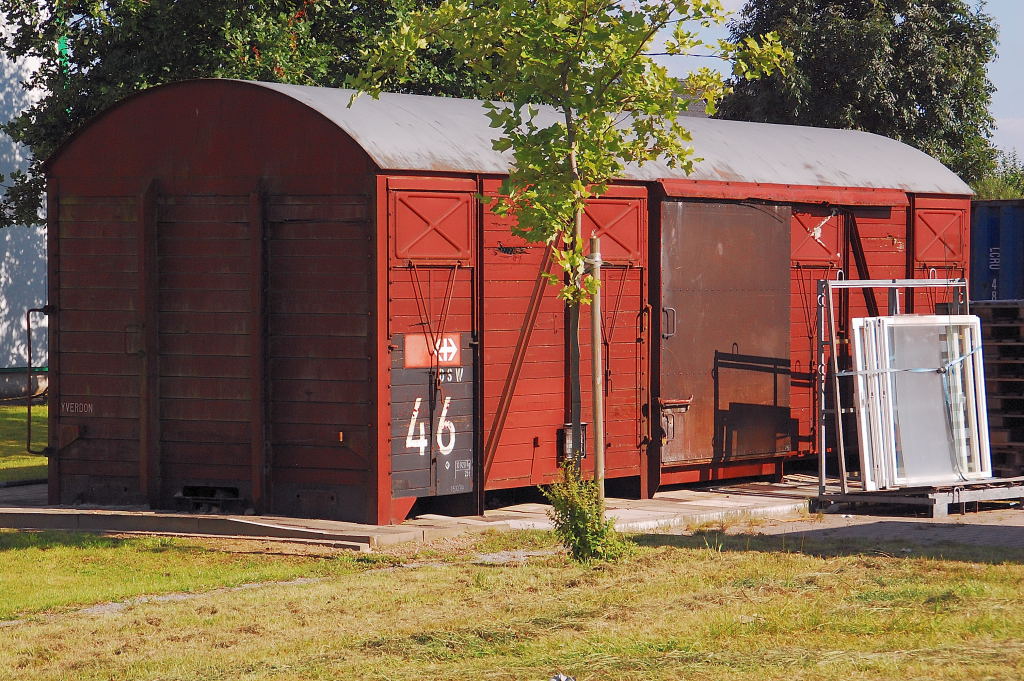
<path fill-rule="evenodd" d="M 42 98 L 2 130 L 33 161 L 14 173 L 0 227 L 41 222 L 41 163 L 89 119 L 154 85 L 224 77 L 338 86 L 372 36 L 422 0 L 0 0 L 11 59 L 37 57 L 25 87 Z M 62 43 L 65 50 L 58 50 Z M 407 92 L 472 96 L 475 80 L 451 54 L 426 50 Z"/>

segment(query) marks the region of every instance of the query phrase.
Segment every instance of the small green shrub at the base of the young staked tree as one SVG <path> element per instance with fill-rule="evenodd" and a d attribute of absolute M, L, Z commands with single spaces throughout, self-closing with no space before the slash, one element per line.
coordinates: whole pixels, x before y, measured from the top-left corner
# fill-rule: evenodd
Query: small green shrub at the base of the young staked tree
<path fill-rule="evenodd" d="M 629 545 L 615 531 L 614 520 L 604 517 L 604 500 L 597 484 L 583 479 L 573 462 L 562 464 L 561 482 L 543 486 L 541 493 L 551 502 L 548 517 L 572 560 L 611 561 L 628 553 Z"/>

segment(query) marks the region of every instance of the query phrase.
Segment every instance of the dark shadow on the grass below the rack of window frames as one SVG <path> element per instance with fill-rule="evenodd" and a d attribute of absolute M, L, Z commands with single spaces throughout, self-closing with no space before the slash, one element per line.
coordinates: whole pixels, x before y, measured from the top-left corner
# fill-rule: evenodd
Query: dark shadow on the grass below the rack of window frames
<path fill-rule="evenodd" d="M 802 553 L 820 558 L 859 555 L 993 564 L 1024 563 L 1024 527 L 923 525 L 886 520 L 858 525 L 856 533 L 844 531 L 847 529 L 852 528 L 809 529 L 784 535 L 699 530 L 692 535 L 638 535 L 632 541 L 647 547 Z M 989 541 L 978 541 L 980 533 L 990 533 Z M 992 541 L 993 537 L 998 539 Z"/>

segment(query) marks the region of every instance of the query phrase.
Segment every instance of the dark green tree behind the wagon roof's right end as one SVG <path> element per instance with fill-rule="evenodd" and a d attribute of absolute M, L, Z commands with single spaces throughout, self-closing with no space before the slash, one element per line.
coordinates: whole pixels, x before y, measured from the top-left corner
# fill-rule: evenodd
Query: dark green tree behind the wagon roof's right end
<path fill-rule="evenodd" d="M 931 154 L 973 182 L 993 164 L 985 65 L 997 30 L 966 0 L 749 0 L 731 39 L 768 31 L 794 68 L 733 82 L 720 116 L 866 130 Z"/>

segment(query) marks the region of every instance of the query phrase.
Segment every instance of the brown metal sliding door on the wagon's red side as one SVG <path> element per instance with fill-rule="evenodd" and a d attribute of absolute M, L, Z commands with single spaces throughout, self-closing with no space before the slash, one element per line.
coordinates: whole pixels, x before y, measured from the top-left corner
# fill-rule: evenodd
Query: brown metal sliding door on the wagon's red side
<path fill-rule="evenodd" d="M 663 465 L 791 450 L 790 220 L 787 206 L 663 204 Z"/>

